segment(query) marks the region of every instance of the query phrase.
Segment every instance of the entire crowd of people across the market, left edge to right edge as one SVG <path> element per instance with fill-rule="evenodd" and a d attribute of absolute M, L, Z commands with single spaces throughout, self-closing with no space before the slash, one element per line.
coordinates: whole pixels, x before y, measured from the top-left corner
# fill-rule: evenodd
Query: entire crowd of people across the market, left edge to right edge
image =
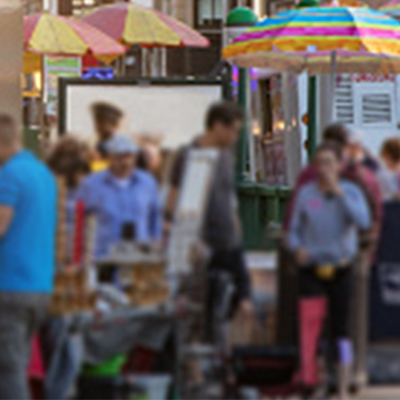
<path fill-rule="evenodd" d="M 231 103 L 210 107 L 204 133 L 175 158 L 164 202 L 158 182 L 162 161 L 154 143 L 139 146 L 121 135 L 123 114 L 112 105 L 95 104 L 92 114 L 95 148 L 65 136 L 44 161 L 22 148 L 12 117 L 0 115 L 0 398 L 29 398 L 30 345 L 53 290 L 60 179 L 67 188 L 69 234 L 77 202 L 96 216 L 93 257 L 98 260 L 120 240 L 165 245 L 188 153 L 193 148 L 219 149 L 202 224 L 202 241 L 211 253 L 207 268 L 231 274 L 235 311 L 252 312 L 232 151 L 243 122 L 241 110 Z M 318 381 L 315 358 L 327 313 L 341 398 L 347 396 L 352 377 L 365 380 L 368 270 L 379 240 L 382 204 L 400 195 L 400 139 L 387 140 L 380 156 L 372 157 L 360 135 L 347 127 L 327 127 L 315 160 L 299 176 L 283 224 L 300 277 L 300 379 L 306 386 Z M 111 276 L 117 279 L 115 271 Z M 351 320 L 358 321 L 364 335 L 354 334 Z"/>

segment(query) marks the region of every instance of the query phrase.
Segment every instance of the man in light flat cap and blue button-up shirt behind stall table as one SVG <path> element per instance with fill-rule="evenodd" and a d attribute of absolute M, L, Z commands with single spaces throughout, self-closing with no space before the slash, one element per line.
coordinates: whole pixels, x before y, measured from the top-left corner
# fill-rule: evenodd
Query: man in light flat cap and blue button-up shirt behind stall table
<path fill-rule="evenodd" d="M 139 243 L 158 241 L 162 225 L 157 183 L 136 169 L 138 147 L 125 136 L 114 136 L 105 148 L 108 169 L 90 175 L 79 195 L 86 210 L 97 217 L 95 259 L 106 256 L 128 231 Z"/>

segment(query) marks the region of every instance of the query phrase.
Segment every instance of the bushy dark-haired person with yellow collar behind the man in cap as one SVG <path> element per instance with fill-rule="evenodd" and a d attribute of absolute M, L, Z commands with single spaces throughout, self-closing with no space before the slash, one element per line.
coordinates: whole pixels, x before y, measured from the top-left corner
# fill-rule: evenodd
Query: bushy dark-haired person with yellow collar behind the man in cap
<path fill-rule="evenodd" d="M 93 170 L 99 170 L 105 168 L 104 161 L 107 158 L 105 143 L 121 129 L 124 114 L 118 107 L 105 102 L 94 103 L 91 111 L 97 136 L 96 149 L 99 156 L 98 162 L 93 165 Z"/>

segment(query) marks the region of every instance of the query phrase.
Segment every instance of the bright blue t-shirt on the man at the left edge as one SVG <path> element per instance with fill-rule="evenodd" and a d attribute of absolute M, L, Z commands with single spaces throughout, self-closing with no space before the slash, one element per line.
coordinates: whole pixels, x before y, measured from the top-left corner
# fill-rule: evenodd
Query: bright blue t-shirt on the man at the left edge
<path fill-rule="evenodd" d="M 57 225 L 51 172 L 33 154 L 17 153 L 0 169 L 0 205 L 14 211 L 0 238 L 0 291 L 51 292 Z"/>

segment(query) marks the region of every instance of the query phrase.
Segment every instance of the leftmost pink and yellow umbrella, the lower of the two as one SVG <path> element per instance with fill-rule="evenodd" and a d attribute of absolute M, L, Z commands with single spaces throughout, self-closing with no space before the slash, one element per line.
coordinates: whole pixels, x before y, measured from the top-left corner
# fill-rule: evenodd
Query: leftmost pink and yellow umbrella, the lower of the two
<path fill-rule="evenodd" d="M 24 18 L 24 70 L 37 70 L 41 55 L 85 56 L 110 62 L 126 48 L 105 33 L 72 18 L 49 13 Z"/>

